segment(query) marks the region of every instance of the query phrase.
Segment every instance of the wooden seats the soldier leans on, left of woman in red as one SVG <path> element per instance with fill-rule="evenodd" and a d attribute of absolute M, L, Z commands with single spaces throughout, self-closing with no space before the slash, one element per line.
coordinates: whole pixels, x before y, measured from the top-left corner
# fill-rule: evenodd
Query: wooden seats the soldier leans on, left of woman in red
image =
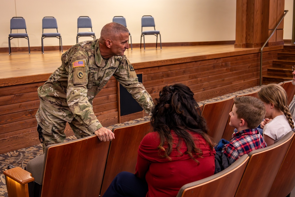
<path fill-rule="evenodd" d="M 30 172 L 15 167 L 4 171 L 12 196 L 99 196 L 122 171 L 135 172 L 138 146 L 150 130 L 150 121 L 114 127 L 115 139 L 96 135 L 46 147 L 45 154 L 27 164 Z M 34 181 L 35 179 L 35 181 Z M 42 190 L 37 187 L 42 185 Z"/>

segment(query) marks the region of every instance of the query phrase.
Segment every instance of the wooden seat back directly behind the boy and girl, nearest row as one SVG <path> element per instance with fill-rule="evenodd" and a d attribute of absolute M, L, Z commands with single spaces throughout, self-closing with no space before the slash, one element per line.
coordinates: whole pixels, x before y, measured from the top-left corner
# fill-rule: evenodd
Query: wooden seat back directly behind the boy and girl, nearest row
<path fill-rule="evenodd" d="M 294 132 L 290 131 L 275 144 L 248 154 L 250 160 L 235 194 L 236 197 L 268 195 L 293 137 Z"/>

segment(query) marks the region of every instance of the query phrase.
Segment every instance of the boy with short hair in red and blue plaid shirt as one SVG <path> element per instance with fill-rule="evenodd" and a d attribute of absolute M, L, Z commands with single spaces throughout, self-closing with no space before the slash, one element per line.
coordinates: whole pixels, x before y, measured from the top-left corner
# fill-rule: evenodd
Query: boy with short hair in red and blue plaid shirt
<path fill-rule="evenodd" d="M 256 129 L 265 113 L 263 102 L 256 97 L 234 98 L 229 124 L 236 128 L 237 132 L 232 134 L 230 143 L 225 144 L 222 148 L 222 152 L 232 162 L 253 150 L 266 147 L 263 137 Z"/>

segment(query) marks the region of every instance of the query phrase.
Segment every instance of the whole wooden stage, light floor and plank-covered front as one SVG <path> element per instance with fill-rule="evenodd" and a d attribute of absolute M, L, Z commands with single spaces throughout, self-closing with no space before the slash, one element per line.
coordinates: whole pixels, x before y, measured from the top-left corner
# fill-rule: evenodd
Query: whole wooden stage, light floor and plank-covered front
<path fill-rule="evenodd" d="M 263 50 L 263 73 L 283 46 Z M 60 65 L 59 51 L 0 53 L 0 154 L 40 143 L 35 113 L 39 107 L 37 88 Z M 197 101 L 259 85 L 260 48 L 240 49 L 234 45 L 199 45 L 131 48 L 125 55 L 150 95 L 158 97 L 165 85 L 183 83 Z M 93 108 L 104 126 L 133 120 L 143 112 L 118 114 L 117 82 L 114 77 L 94 99 Z M 70 129 L 67 128 L 67 134 Z M 72 134 L 72 133 L 71 133 Z"/>

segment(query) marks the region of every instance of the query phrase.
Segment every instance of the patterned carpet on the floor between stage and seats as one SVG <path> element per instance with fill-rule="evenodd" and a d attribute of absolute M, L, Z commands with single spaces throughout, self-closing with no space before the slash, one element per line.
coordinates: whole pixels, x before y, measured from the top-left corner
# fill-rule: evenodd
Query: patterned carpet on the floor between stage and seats
<path fill-rule="evenodd" d="M 227 95 L 223 95 L 220 97 L 215 97 L 212 99 L 208 99 L 208 100 L 204 100 L 202 102 L 198 102 L 199 105 L 203 104 L 204 102 L 210 102 L 210 101 L 217 101 L 217 100 L 222 100 L 224 98 L 228 98 L 232 95 L 239 95 L 239 94 L 245 94 L 248 92 L 253 92 L 257 89 L 260 89 L 261 87 L 256 86 L 256 87 L 252 87 L 252 88 L 248 88 L 242 91 L 238 91 L 238 92 L 234 92 L 231 94 L 227 94 Z M 122 125 L 130 125 L 130 124 L 134 124 L 134 123 L 140 123 L 142 121 L 146 121 L 149 120 L 150 117 L 146 116 L 143 118 L 139 118 L 133 121 L 128 121 L 125 123 L 120 123 L 120 124 L 115 124 L 112 126 L 109 126 L 107 128 L 112 129 L 114 126 L 122 126 Z M 65 141 L 70 141 L 76 139 L 75 136 L 69 136 L 66 138 Z M 43 154 L 42 151 L 42 145 L 38 144 L 35 146 L 31 146 L 31 147 L 27 147 L 24 149 L 19 149 L 19 150 L 15 150 L 12 152 L 8 152 L 8 153 L 4 153 L 4 154 L 0 154 L 0 197 L 5 196 L 8 197 L 7 195 L 7 189 L 6 189 L 6 182 L 5 182 L 5 176 L 3 174 L 3 171 L 7 169 L 8 165 L 13 165 L 14 167 L 21 167 L 24 168 L 27 165 L 27 162 L 31 159 L 33 159 L 34 157 L 36 157 L 37 155 Z"/>

